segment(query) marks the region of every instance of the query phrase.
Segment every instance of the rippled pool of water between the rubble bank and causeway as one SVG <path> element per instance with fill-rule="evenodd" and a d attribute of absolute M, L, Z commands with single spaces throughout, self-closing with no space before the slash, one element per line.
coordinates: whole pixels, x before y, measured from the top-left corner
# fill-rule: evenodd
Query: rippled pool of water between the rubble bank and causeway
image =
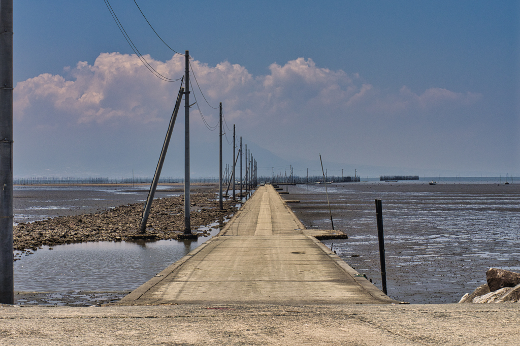
<path fill-rule="evenodd" d="M 205 229 L 211 237 L 220 231 Z M 15 291 L 134 290 L 209 239 L 43 246 L 14 263 Z"/>

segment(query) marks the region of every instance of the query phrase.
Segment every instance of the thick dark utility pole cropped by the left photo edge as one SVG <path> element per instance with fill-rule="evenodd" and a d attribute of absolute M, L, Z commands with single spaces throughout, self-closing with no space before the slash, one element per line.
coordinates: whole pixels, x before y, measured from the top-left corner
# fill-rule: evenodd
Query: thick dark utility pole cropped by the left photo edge
<path fill-rule="evenodd" d="M 0 1 L 0 303 L 14 304 L 12 260 L 12 0 Z"/>

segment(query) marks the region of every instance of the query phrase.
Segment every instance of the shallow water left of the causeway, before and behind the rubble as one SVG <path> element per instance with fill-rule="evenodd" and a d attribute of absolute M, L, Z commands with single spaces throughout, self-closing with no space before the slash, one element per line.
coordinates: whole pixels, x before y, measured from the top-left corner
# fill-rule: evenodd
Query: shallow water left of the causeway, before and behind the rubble
<path fill-rule="evenodd" d="M 206 189 L 207 187 L 198 187 Z M 15 221 L 93 213 L 127 203 L 145 201 L 149 186 L 16 186 Z M 184 185 L 158 186 L 155 198 L 178 196 Z M 215 220 L 216 221 L 216 220 Z M 226 221 L 226 220 L 224 220 Z M 198 240 L 87 242 L 48 246 L 17 256 L 15 291 L 125 291 L 134 290 L 219 232 Z M 15 254 L 20 252 L 15 251 Z"/>

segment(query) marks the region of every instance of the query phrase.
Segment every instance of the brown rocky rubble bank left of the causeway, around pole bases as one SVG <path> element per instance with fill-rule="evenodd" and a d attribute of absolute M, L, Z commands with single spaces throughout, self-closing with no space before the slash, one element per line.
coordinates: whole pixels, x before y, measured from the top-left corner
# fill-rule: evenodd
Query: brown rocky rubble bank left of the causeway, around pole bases
<path fill-rule="evenodd" d="M 237 211 L 236 201 L 218 201 L 212 193 L 196 193 L 190 197 L 191 229 L 197 229 L 229 218 Z M 42 245 L 54 246 L 86 241 L 132 240 L 141 221 L 143 204 L 127 204 L 94 214 L 59 216 L 52 219 L 20 223 L 14 227 L 15 254 L 31 254 Z M 184 196 L 155 199 L 148 217 L 146 238 L 177 239 L 184 233 Z M 198 235 L 205 235 L 206 232 Z"/>

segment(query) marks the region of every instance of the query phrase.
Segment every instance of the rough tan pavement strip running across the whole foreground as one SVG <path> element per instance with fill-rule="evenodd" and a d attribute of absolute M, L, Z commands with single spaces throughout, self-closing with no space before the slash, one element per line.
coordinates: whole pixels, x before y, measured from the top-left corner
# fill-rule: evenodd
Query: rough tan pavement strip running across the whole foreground
<path fill-rule="evenodd" d="M 4 305 L 0 344 L 518 345 L 518 305 Z"/>

